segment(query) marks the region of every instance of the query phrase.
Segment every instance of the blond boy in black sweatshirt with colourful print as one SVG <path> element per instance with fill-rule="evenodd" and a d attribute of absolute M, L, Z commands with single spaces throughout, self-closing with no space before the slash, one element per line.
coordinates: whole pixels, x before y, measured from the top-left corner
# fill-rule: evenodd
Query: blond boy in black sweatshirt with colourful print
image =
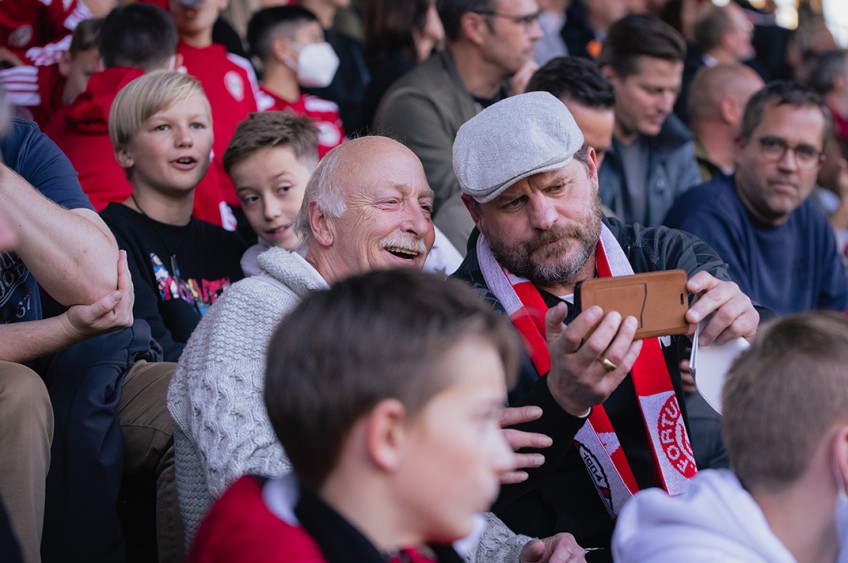
<path fill-rule="evenodd" d="M 135 316 L 176 361 L 209 305 L 241 279 L 246 249 L 237 234 L 191 216 L 212 148 L 203 88 L 173 71 L 133 80 L 112 104 L 109 137 L 133 191 L 101 217 L 127 251 Z"/>

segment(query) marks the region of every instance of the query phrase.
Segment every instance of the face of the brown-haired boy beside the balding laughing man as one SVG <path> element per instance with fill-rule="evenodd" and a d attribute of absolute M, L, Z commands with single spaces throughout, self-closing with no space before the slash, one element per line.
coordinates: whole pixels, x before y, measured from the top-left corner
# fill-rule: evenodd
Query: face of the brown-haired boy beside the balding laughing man
<path fill-rule="evenodd" d="M 247 221 L 270 245 L 297 248 L 300 238 L 292 225 L 309 174 L 290 147 L 258 150 L 230 169 Z"/>

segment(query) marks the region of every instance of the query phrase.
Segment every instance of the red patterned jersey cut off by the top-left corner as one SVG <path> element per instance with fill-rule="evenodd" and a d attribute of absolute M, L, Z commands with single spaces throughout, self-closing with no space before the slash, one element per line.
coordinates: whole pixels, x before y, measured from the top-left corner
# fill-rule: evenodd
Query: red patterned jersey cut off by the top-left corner
<path fill-rule="evenodd" d="M 0 46 L 24 59 L 51 54 L 49 44 L 64 38 L 91 12 L 79 0 L 0 0 Z M 55 61 L 52 61 L 55 62 Z"/>

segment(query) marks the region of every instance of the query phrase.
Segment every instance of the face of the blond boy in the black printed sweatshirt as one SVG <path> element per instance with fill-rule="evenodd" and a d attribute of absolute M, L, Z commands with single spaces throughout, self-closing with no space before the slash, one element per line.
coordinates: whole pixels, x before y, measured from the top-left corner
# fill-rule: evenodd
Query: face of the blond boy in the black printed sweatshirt
<path fill-rule="evenodd" d="M 209 168 L 212 118 L 206 98 L 194 94 L 153 114 L 127 148 L 119 152 L 131 168 L 134 189 L 190 193 Z"/>

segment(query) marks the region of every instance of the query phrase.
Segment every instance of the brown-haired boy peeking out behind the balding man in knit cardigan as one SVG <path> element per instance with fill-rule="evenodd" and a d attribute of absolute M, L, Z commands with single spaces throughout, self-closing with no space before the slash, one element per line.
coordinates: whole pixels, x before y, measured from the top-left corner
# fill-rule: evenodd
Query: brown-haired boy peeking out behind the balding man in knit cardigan
<path fill-rule="evenodd" d="M 256 258 L 272 246 L 300 246 L 294 222 L 306 182 L 318 166 L 317 143 L 312 120 L 290 112 L 252 113 L 236 127 L 224 153 L 224 170 L 259 237 L 241 259 L 246 276 L 259 273 Z"/>

